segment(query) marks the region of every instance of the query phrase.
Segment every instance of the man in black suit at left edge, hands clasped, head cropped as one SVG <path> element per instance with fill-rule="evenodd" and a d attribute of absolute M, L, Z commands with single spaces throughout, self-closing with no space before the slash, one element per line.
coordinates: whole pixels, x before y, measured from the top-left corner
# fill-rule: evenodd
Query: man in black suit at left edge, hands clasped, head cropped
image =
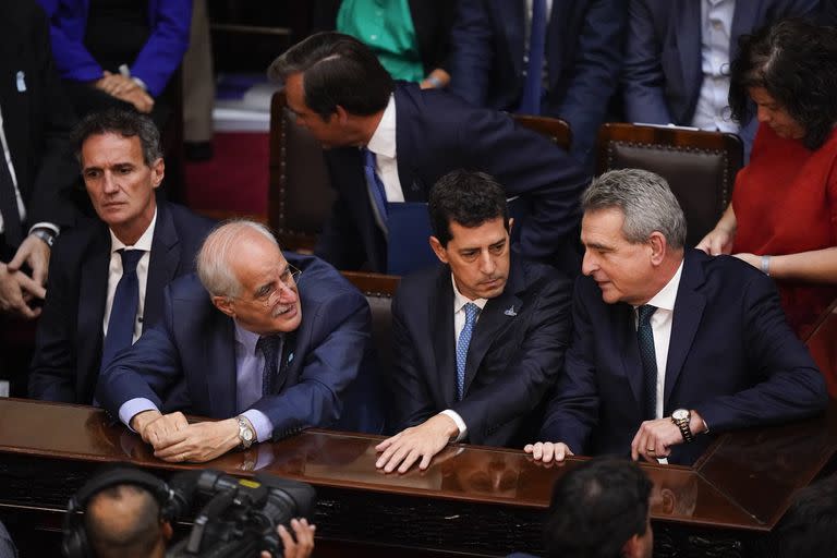
<path fill-rule="evenodd" d="M 0 8 L 0 311 L 40 314 L 50 248 L 73 223 L 64 194 L 77 177 L 44 12 L 33 0 Z"/>

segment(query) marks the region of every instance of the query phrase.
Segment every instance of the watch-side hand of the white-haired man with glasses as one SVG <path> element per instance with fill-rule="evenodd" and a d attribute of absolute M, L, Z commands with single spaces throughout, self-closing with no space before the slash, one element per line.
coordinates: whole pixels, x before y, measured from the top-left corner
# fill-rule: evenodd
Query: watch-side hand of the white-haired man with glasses
<path fill-rule="evenodd" d="M 175 463 L 203 463 L 227 453 L 239 444 L 239 422 L 235 418 L 194 423 L 161 437 L 154 445 L 154 456 Z"/>

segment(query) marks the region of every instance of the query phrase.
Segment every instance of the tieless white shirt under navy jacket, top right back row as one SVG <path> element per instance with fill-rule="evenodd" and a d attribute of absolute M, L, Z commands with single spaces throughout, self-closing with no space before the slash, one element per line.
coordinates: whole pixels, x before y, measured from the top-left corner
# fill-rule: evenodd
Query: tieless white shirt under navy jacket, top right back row
<path fill-rule="evenodd" d="M 692 125 L 738 132 L 729 109 L 729 46 L 736 0 L 701 0 L 701 70 L 703 81 Z"/>

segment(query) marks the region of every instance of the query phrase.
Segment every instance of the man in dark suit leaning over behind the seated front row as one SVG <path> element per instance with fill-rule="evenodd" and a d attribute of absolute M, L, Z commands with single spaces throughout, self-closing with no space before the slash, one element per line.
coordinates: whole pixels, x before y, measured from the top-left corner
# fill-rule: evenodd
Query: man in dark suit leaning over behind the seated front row
<path fill-rule="evenodd" d="M 430 186 L 458 168 L 493 174 L 508 197 L 529 204 L 520 234 L 525 256 L 578 266 L 578 196 L 586 178 L 542 135 L 444 92 L 396 86 L 372 51 L 347 35 L 308 37 L 269 74 L 284 82 L 296 122 L 330 148 L 338 198 L 315 253 L 336 267 L 386 271 L 389 207 L 426 202 Z"/>

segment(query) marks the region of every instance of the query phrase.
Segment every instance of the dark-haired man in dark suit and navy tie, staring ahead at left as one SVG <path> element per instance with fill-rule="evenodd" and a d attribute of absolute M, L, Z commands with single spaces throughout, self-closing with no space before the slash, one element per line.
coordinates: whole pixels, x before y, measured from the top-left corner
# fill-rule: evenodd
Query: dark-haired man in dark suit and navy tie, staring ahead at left
<path fill-rule="evenodd" d="M 116 312 L 111 308 L 118 307 L 124 248 L 145 251 L 136 263 L 137 294 L 144 296 L 131 308 L 136 319 L 126 347 L 159 319 L 169 281 L 194 270 L 195 254 L 213 221 L 156 199 L 165 163 L 160 135 L 149 118 L 121 110 L 93 114 L 80 123 L 75 143 L 99 219 L 80 223 L 56 243 L 29 397 L 90 404 L 106 364 L 102 350 Z"/>

